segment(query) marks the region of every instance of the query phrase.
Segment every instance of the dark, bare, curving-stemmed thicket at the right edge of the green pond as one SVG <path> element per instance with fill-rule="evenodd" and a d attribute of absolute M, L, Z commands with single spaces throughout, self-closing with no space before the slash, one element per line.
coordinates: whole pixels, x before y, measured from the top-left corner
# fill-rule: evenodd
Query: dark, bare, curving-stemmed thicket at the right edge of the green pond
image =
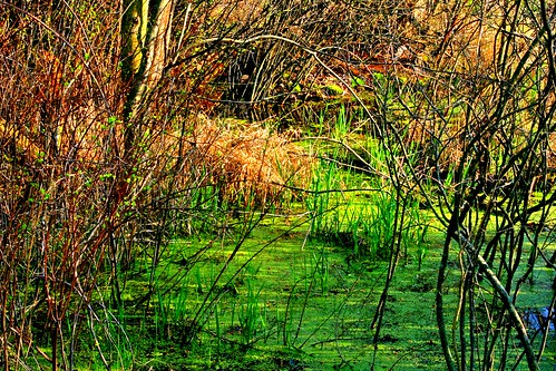
<path fill-rule="evenodd" d="M 546 344 L 546 329 L 531 335 L 517 309 L 535 265 L 555 267 L 543 236 L 554 223 L 553 7 L 449 4 L 427 78 L 380 85 L 392 179 L 446 230 L 436 313 L 449 370 L 537 370 Z M 389 109 L 392 96 L 402 114 Z M 445 297 L 453 263 L 456 309 Z"/>

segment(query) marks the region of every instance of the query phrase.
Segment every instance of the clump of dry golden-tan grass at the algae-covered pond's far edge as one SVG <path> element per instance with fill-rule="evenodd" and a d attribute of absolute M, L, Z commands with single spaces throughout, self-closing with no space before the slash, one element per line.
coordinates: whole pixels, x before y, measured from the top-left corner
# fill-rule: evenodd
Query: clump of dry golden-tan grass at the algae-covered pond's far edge
<path fill-rule="evenodd" d="M 202 184 L 216 186 L 228 203 L 264 207 L 293 196 L 290 187 L 306 188 L 311 179 L 313 158 L 263 124 L 198 116 L 187 140 L 195 154 L 191 166 L 208 170 Z"/>

